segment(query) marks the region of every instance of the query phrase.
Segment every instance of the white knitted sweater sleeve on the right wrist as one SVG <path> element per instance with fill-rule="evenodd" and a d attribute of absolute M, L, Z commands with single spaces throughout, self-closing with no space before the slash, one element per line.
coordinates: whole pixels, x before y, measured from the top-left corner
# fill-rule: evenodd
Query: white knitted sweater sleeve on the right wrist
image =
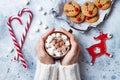
<path fill-rule="evenodd" d="M 81 80 L 79 64 L 75 63 L 68 66 L 59 67 L 59 80 Z"/>

